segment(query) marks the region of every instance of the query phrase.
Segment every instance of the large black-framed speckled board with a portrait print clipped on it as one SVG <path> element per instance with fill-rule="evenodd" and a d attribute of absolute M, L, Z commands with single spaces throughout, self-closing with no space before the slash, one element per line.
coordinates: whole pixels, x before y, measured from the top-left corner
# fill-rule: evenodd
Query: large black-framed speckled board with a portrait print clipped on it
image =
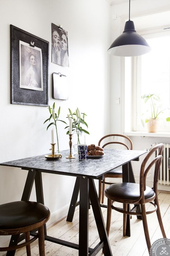
<path fill-rule="evenodd" d="M 48 106 L 49 104 L 49 42 L 10 25 L 11 39 L 11 104 Z M 32 45 L 31 42 L 34 42 Z M 21 49 L 24 46 L 24 50 Z M 38 54 L 37 54 L 38 53 Z M 36 60 L 36 55 L 37 57 Z M 34 71 L 31 68 L 31 57 Z M 36 66 L 37 65 L 37 66 Z M 36 70 L 37 76 L 36 76 Z M 31 73 L 32 72 L 32 73 Z M 35 75 L 32 85 L 23 85 L 23 77 Z M 39 79 L 36 77 L 39 76 Z M 21 82 L 22 79 L 22 82 Z M 22 84 L 22 85 L 21 85 Z"/>

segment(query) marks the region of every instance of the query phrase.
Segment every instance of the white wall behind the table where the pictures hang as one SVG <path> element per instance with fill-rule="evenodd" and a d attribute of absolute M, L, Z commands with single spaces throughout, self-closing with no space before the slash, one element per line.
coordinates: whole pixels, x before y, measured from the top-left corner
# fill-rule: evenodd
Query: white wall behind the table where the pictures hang
<path fill-rule="evenodd" d="M 72 110 L 79 107 L 88 115 L 90 136 L 86 136 L 86 142 L 97 143 L 110 126 L 108 3 L 105 0 L 1 0 L 0 5 L 0 162 L 45 155 L 51 140 L 50 130 L 46 131 L 43 125 L 49 117 L 46 107 L 10 104 L 10 24 L 49 41 L 49 104 L 55 101 L 57 107 L 61 106 L 61 119 L 65 121 L 68 107 Z M 51 62 L 51 23 L 62 24 L 68 31 L 69 68 Z M 53 72 L 68 77 L 68 101 L 52 99 Z M 61 150 L 69 148 L 64 127 L 59 123 Z M 21 199 L 26 176 L 25 170 L 0 166 L 0 204 Z M 44 201 L 54 215 L 69 205 L 75 178 L 45 173 L 42 176 Z M 30 199 L 36 200 L 35 190 Z"/>

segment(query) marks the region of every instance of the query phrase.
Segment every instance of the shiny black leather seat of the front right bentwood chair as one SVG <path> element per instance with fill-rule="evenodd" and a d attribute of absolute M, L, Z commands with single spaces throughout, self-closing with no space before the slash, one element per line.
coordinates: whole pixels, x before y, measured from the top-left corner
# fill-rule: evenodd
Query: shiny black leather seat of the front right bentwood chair
<path fill-rule="evenodd" d="M 115 183 L 107 187 L 105 192 L 110 196 L 128 200 L 136 200 L 140 196 L 139 184 L 136 183 Z M 155 192 L 150 187 L 146 187 L 144 198 L 148 199 L 154 195 Z"/>

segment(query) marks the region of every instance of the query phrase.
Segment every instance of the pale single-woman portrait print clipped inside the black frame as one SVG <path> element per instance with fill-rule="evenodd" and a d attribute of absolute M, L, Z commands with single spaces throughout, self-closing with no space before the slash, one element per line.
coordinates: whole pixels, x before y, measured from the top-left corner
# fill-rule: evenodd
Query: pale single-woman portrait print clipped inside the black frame
<path fill-rule="evenodd" d="M 19 87 L 43 91 L 42 52 L 28 43 L 19 41 Z"/>

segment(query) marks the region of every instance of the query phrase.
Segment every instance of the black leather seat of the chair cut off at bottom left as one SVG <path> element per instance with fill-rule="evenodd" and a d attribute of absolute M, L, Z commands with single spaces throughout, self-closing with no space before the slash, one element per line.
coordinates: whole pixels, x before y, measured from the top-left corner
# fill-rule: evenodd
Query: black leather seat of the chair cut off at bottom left
<path fill-rule="evenodd" d="M 49 209 L 40 203 L 16 201 L 0 205 L 0 229 L 15 229 L 30 226 L 43 219 Z"/>

